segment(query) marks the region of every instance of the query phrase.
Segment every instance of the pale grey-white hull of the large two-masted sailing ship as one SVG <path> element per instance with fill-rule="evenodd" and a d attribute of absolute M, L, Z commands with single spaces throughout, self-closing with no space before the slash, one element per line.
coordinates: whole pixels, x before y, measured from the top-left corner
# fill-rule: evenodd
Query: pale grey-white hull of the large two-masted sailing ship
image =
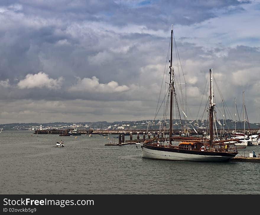
<path fill-rule="evenodd" d="M 205 155 L 194 155 L 186 153 L 167 152 L 160 150 L 153 150 L 142 147 L 143 158 L 152 158 L 159 160 L 173 160 L 173 161 L 204 161 L 204 162 L 222 162 L 227 161 L 230 157 L 224 156 L 205 156 Z"/>

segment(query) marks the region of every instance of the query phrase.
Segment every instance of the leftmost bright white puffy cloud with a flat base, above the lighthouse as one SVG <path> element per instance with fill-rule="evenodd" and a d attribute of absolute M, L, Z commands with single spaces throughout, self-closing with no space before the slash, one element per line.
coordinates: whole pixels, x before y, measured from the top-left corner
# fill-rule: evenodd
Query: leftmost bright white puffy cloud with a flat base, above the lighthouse
<path fill-rule="evenodd" d="M 18 82 L 18 87 L 20 89 L 25 88 L 43 88 L 48 89 L 60 89 L 63 77 L 58 79 L 49 78 L 49 76 L 44 72 L 39 72 L 38 74 L 27 74 L 25 79 Z"/>

